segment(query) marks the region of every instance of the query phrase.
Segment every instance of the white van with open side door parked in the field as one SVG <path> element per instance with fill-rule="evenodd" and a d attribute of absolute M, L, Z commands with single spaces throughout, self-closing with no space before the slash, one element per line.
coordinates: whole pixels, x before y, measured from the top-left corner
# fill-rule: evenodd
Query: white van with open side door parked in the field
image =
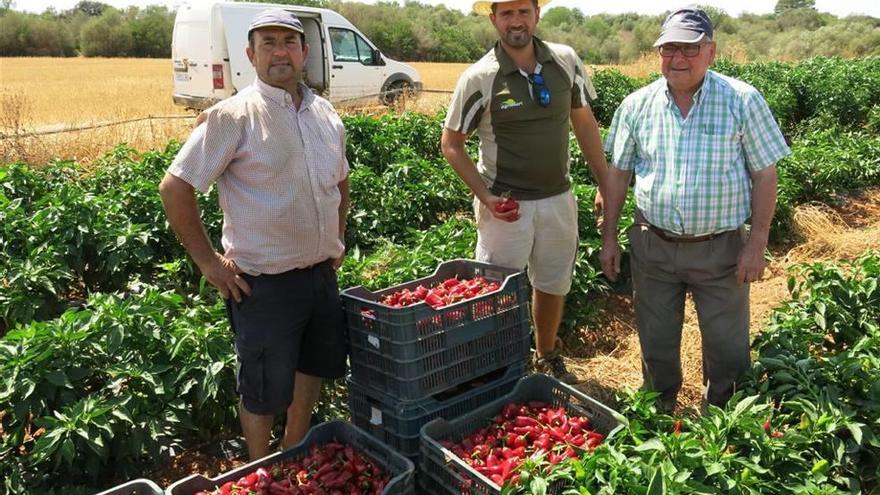
<path fill-rule="evenodd" d="M 174 18 L 171 59 L 174 103 L 204 110 L 254 82 L 245 54 L 248 25 L 257 12 L 280 7 L 305 27 L 309 57 L 306 84 L 331 102 L 377 98 L 389 104 L 422 89 L 419 73 L 382 55 L 352 23 L 328 10 L 242 2 L 184 3 Z"/>

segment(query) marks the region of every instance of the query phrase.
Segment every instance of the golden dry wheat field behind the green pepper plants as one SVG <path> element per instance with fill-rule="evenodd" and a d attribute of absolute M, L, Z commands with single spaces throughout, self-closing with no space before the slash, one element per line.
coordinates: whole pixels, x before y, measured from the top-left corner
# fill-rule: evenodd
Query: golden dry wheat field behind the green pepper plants
<path fill-rule="evenodd" d="M 395 110 L 434 113 L 444 108 L 468 64 L 414 62 L 426 92 Z M 641 76 L 645 58 L 620 68 Z M 194 120 L 171 101 L 168 59 L 0 58 L 0 163 L 41 164 L 59 158 L 90 162 L 117 144 L 158 149 L 185 140 Z M 382 113 L 375 102 L 347 104 L 341 113 Z M 131 123 L 120 122 L 146 119 Z M 171 117 L 171 118 L 165 118 Z M 95 129 L 74 130 L 79 127 Z M 33 133 L 46 133 L 33 135 Z"/>

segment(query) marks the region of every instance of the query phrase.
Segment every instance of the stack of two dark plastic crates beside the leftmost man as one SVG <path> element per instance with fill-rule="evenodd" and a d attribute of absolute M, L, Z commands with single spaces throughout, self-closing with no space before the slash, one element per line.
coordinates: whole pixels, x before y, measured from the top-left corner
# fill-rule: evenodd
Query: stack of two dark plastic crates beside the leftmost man
<path fill-rule="evenodd" d="M 439 309 L 381 304 L 402 289 L 483 277 L 494 292 Z M 342 292 L 348 322 L 352 421 L 417 461 L 419 430 L 454 419 L 513 390 L 531 347 L 529 288 L 517 270 L 471 260 L 441 264 L 425 278 L 371 292 Z"/>

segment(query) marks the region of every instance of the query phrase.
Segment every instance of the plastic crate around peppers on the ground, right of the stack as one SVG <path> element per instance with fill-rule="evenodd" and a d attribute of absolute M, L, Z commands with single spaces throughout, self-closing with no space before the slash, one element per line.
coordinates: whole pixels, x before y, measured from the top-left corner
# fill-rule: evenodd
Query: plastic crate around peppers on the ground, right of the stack
<path fill-rule="evenodd" d="M 437 494 L 497 495 L 501 487 L 475 471 L 458 456 L 440 445 L 441 440 L 459 442 L 487 425 L 509 402 L 542 401 L 553 407 L 563 406 L 569 414 L 590 418 L 591 427 L 606 439 L 622 428 L 620 414 L 564 383 L 546 375 L 531 375 L 520 380 L 513 392 L 453 421 L 439 418 L 422 427 L 420 469 L 428 491 Z M 551 486 L 549 493 L 564 487 Z"/>

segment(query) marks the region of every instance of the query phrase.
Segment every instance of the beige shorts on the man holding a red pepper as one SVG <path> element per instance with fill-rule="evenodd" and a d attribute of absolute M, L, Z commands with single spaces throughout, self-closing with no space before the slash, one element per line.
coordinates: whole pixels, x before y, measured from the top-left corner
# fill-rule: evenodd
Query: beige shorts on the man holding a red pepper
<path fill-rule="evenodd" d="M 519 204 L 520 219 L 505 222 L 474 199 L 477 260 L 518 270 L 528 266 L 532 287 L 568 294 L 578 247 L 574 195 L 569 191 Z"/>

